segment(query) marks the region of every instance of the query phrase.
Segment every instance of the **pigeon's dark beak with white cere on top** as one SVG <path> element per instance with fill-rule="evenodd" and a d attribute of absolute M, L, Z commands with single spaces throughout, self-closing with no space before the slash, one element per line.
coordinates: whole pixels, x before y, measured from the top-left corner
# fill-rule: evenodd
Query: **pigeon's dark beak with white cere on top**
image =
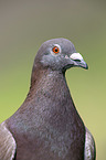
<path fill-rule="evenodd" d="M 85 63 L 80 53 L 73 53 L 70 58 L 73 61 L 74 66 L 80 66 L 86 70 L 88 68 L 88 65 Z"/>

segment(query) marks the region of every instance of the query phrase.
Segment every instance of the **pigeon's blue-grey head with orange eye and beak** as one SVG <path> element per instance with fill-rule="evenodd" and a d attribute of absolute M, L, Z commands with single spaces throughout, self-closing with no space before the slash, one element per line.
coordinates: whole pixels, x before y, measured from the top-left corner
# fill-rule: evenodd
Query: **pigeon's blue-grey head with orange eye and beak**
<path fill-rule="evenodd" d="M 75 51 L 74 44 L 62 38 L 44 42 L 35 56 L 34 65 L 62 72 L 73 66 L 88 68 L 83 56 Z"/>

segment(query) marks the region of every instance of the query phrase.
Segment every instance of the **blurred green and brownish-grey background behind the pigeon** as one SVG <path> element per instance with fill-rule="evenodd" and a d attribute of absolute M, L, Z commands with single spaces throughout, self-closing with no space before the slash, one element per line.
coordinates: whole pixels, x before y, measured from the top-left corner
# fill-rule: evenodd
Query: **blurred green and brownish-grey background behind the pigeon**
<path fill-rule="evenodd" d="M 33 60 L 53 38 L 71 40 L 89 70 L 66 72 L 70 90 L 106 160 L 106 1 L 0 0 L 0 122 L 23 103 Z"/>

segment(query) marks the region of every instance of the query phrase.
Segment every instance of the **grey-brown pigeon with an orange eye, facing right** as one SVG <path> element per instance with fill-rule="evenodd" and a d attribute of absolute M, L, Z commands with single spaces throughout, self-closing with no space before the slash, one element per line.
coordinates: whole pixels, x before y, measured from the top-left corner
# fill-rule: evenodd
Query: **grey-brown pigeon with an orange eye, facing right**
<path fill-rule="evenodd" d="M 80 117 L 65 79 L 72 67 L 88 68 L 67 39 L 39 49 L 21 107 L 0 125 L 0 160 L 95 160 L 95 141 Z"/>

